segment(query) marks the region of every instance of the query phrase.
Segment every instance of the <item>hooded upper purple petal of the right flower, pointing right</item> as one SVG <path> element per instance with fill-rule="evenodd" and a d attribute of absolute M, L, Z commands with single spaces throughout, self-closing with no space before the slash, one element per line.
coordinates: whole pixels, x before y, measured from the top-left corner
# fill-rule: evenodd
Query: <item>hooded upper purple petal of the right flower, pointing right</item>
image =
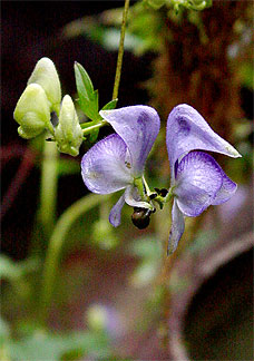
<path fill-rule="evenodd" d="M 193 107 L 182 104 L 175 107 L 167 119 L 166 144 L 174 180 L 175 162 L 186 153 L 195 149 L 211 150 L 229 157 L 241 154 L 219 137 Z"/>

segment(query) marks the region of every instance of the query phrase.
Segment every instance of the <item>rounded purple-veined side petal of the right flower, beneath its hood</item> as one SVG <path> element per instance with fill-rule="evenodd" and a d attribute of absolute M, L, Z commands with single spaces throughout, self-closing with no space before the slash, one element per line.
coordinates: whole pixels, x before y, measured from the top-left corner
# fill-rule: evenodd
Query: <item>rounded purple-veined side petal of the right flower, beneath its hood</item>
<path fill-rule="evenodd" d="M 223 185 L 223 170 L 203 152 L 188 153 L 179 163 L 174 193 L 179 209 L 195 217 L 215 199 Z"/>

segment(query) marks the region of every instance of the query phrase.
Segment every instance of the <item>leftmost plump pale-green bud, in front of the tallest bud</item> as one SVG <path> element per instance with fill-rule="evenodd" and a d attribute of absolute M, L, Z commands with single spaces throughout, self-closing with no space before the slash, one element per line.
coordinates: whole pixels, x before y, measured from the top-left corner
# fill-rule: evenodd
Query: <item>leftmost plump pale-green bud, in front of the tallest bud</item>
<path fill-rule="evenodd" d="M 45 90 L 38 84 L 27 86 L 14 108 L 18 133 L 30 139 L 41 134 L 50 124 L 50 108 Z"/>

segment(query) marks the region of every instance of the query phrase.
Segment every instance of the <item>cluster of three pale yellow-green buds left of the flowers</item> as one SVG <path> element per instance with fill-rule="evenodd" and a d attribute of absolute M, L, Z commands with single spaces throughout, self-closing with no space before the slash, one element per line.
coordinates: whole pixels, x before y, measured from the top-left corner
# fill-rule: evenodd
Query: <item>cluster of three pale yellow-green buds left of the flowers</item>
<path fill-rule="evenodd" d="M 51 123 L 52 113 L 59 118 L 56 127 Z M 66 95 L 61 100 L 60 80 L 50 59 L 42 58 L 37 62 L 13 116 L 22 138 L 30 139 L 48 130 L 59 152 L 72 156 L 79 154 L 82 129 L 71 97 Z"/>

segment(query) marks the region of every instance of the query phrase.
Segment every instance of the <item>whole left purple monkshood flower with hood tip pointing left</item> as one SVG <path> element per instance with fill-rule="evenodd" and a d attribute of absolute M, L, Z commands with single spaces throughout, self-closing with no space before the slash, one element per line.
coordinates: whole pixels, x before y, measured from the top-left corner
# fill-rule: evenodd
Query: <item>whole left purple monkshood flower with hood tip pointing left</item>
<path fill-rule="evenodd" d="M 138 209 L 154 209 L 143 195 L 143 174 L 160 121 L 154 108 L 141 105 L 100 110 L 99 114 L 116 134 L 98 142 L 85 154 L 81 174 L 85 185 L 94 193 L 125 189 L 109 214 L 109 222 L 116 227 L 120 224 L 125 203 Z"/>

